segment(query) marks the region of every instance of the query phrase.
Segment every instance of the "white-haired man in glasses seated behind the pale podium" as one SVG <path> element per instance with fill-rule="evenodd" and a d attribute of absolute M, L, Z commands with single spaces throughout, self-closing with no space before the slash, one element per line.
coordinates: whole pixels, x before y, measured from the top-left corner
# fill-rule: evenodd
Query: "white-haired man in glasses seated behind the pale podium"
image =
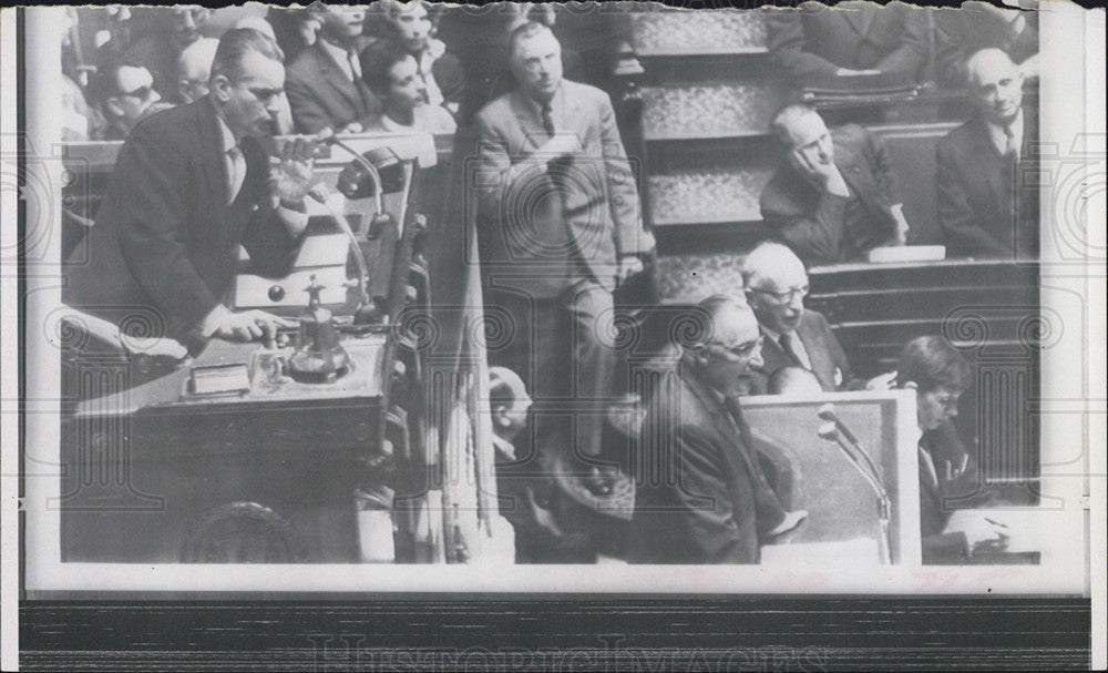
<path fill-rule="evenodd" d="M 761 358 L 751 368 L 752 394 L 765 395 L 769 378 L 782 367 L 807 369 L 828 392 L 892 385 L 892 374 L 869 381 L 854 377 L 827 318 L 804 308 L 808 273 L 788 247 L 767 242 L 752 249 L 742 264 L 742 284 L 765 337 Z"/>

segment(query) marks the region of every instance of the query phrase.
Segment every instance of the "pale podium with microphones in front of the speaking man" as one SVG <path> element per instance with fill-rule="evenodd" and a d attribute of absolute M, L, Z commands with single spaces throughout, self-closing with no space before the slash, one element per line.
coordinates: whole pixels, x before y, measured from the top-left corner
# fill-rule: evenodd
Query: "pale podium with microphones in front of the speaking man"
<path fill-rule="evenodd" d="M 762 549 L 762 563 L 882 562 L 876 493 L 843 449 L 818 435 L 827 422 L 819 411 L 829 402 L 872 458 L 888 491 L 892 563 L 919 564 L 920 431 L 911 390 L 743 398 L 759 450 L 770 462 L 791 467 L 786 507 L 808 510 L 797 529 Z"/>

